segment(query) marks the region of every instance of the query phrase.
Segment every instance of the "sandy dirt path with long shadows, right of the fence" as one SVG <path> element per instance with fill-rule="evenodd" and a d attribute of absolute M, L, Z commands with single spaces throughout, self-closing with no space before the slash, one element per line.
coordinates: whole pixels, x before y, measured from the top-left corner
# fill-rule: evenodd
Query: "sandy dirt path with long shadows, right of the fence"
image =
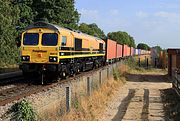
<path fill-rule="evenodd" d="M 117 90 L 99 121 L 163 121 L 166 119 L 160 91 L 171 84 L 164 72 L 136 72 Z"/>

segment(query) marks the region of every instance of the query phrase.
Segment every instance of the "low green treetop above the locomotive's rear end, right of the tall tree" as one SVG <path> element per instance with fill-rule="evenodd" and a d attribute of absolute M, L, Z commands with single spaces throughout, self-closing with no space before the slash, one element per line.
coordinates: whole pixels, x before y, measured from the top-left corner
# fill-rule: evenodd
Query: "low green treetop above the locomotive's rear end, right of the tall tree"
<path fill-rule="evenodd" d="M 99 37 L 101 39 L 106 39 L 106 35 L 104 34 L 104 32 L 95 23 L 93 24 L 81 23 L 79 26 L 79 30 L 86 34 Z"/>

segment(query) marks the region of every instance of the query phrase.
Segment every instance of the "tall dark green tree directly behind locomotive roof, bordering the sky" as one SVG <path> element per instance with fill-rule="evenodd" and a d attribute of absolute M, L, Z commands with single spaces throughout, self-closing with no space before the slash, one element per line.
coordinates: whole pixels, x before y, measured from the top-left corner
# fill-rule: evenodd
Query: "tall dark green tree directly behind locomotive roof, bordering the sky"
<path fill-rule="evenodd" d="M 74 0 L 33 0 L 35 20 L 45 20 L 63 27 L 77 29 L 79 13 Z"/>

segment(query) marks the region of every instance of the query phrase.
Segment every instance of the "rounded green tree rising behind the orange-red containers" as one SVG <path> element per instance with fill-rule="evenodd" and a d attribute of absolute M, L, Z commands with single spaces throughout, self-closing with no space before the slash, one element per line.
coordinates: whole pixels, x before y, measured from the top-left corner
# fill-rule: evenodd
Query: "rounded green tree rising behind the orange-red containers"
<path fill-rule="evenodd" d="M 119 44 L 127 44 L 130 47 L 135 47 L 135 40 L 127 32 L 110 32 L 108 38 L 117 41 Z"/>

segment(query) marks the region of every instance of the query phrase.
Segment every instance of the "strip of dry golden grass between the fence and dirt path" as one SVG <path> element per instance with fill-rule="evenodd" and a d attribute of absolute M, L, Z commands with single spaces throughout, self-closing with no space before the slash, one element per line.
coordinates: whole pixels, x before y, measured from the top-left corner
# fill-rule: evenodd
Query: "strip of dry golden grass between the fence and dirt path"
<path fill-rule="evenodd" d="M 124 75 L 129 67 L 121 65 L 118 68 L 120 75 Z M 72 109 L 65 115 L 62 121 L 93 121 L 97 120 L 98 114 L 103 113 L 108 102 L 111 101 L 115 92 L 125 83 L 125 78 L 119 76 L 118 80 L 111 78 L 108 82 L 104 83 L 100 89 L 94 91 L 90 97 L 82 97 L 78 99 L 78 108 Z"/>

